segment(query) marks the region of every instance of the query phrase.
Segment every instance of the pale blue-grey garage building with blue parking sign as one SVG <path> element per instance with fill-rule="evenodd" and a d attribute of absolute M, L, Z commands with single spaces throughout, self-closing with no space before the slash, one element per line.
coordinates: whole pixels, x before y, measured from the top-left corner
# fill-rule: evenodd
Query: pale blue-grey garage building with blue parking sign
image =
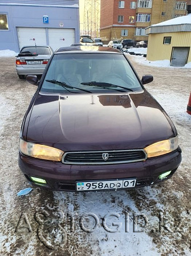
<path fill-rule="evenodd" d="M 0 50 L 50 45 L 54 50 L 79 42 L 79 0 L 2 0 Z"/>

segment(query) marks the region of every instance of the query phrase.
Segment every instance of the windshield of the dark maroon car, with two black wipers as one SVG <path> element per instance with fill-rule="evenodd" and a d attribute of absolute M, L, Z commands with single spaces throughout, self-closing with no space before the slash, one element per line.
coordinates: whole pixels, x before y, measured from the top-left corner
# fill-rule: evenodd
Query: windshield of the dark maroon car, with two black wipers
<path fill-rule="evenodd" d="M 94 93 L 141 89 L 140 82 L 123 54 L 60 53 L 52 58 L 40 91 Z"/>

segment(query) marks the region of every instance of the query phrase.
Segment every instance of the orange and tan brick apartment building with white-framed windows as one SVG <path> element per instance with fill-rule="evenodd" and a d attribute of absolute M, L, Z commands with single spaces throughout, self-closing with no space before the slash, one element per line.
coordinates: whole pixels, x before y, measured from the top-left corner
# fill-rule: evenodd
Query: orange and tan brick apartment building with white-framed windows
<path fill-rule="evenodd" d="M 100 37 L 106 43 L 126 38 L 148 40 L 145 28 L 187 14 L 187 1 L 101 0 Z"/>

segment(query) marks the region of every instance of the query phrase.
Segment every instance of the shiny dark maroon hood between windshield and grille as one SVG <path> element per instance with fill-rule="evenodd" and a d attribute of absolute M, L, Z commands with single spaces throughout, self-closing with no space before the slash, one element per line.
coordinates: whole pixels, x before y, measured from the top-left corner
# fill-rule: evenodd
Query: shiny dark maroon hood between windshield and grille
<path fill-rule="evenodd" d="M 176 132 L 146 90 L 67 96 L 37 93 L 24 123 L 27 141 L 64 151 L 144 148 Z"/>

